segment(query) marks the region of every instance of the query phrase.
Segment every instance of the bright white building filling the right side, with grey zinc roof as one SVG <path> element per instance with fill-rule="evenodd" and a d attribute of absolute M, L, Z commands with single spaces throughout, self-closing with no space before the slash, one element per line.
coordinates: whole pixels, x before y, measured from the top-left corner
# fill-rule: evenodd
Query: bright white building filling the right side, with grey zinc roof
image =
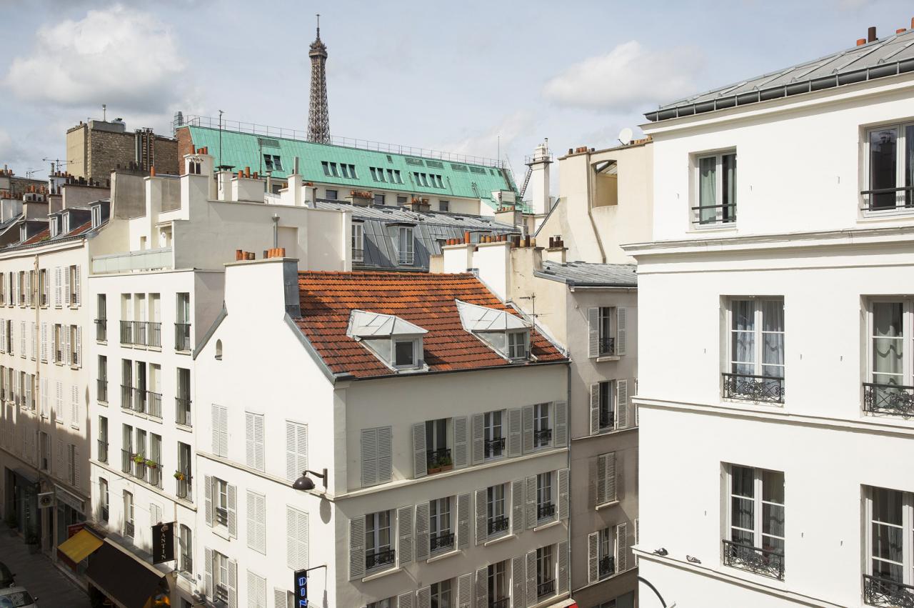
<path fill-rule="evenodd" d="M 914 603 L 912 40 L 647 114 L 645 608 Z"/>

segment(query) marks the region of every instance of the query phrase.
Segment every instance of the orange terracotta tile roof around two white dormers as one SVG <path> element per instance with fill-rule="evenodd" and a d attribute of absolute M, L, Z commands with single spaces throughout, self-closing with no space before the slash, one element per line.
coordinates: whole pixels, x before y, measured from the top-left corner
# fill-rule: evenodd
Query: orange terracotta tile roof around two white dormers
<path fill-rule="evenodd" d="M 366 347 L 346 336 L 349 314 L 356 308 L 398 315 L 427 329 L 423 347 L 430 371 L 526 365 L 508 363 L 463 330 L 456 299 L 516 314 L 473 274 L 299 272 L 298 288 L 302 317 L 296 324 L 334 373 L 356 378 L 393 374 Z M 531 332 L 530 350 L 538 362 L 566 358 L 537 332 Z"/>

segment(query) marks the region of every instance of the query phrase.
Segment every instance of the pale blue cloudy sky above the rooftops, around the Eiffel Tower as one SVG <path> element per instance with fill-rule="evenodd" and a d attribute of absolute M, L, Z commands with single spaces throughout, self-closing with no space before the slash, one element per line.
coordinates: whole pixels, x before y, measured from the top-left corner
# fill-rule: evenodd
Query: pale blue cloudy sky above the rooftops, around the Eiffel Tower
<path fill-rule="evenodd" d="M 668 6 L 667 6 L 668 5 Z M 903 0 L 0 0 L 0 163 L 80 120 L 171 134 L 178 110 L 304 129 L 314 13 L 338 136 L 503 157 L 615 143 L 656 104 L 910 27 Z"/>

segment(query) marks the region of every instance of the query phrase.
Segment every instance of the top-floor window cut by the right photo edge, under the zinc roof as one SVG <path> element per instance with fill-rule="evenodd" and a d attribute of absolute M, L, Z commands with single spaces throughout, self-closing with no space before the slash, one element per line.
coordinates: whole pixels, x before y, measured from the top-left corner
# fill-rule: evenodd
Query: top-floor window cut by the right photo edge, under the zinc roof
<path fill-rule="evenodd" d="M 914 124 L 866 132 L 865 211 L 914 207 Z"/>

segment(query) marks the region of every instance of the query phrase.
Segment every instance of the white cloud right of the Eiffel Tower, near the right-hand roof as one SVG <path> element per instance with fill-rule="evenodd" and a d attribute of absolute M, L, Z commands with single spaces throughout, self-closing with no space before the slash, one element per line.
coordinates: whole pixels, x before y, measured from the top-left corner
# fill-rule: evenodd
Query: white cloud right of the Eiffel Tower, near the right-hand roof
<path fill-rule="evenodd" d="M 630 112 L 696 91 L 704 67 L 696 48 L 643 48 L 637 40 L 584 59 L 548 80 L 543 95 L 559 105 Z"/>

